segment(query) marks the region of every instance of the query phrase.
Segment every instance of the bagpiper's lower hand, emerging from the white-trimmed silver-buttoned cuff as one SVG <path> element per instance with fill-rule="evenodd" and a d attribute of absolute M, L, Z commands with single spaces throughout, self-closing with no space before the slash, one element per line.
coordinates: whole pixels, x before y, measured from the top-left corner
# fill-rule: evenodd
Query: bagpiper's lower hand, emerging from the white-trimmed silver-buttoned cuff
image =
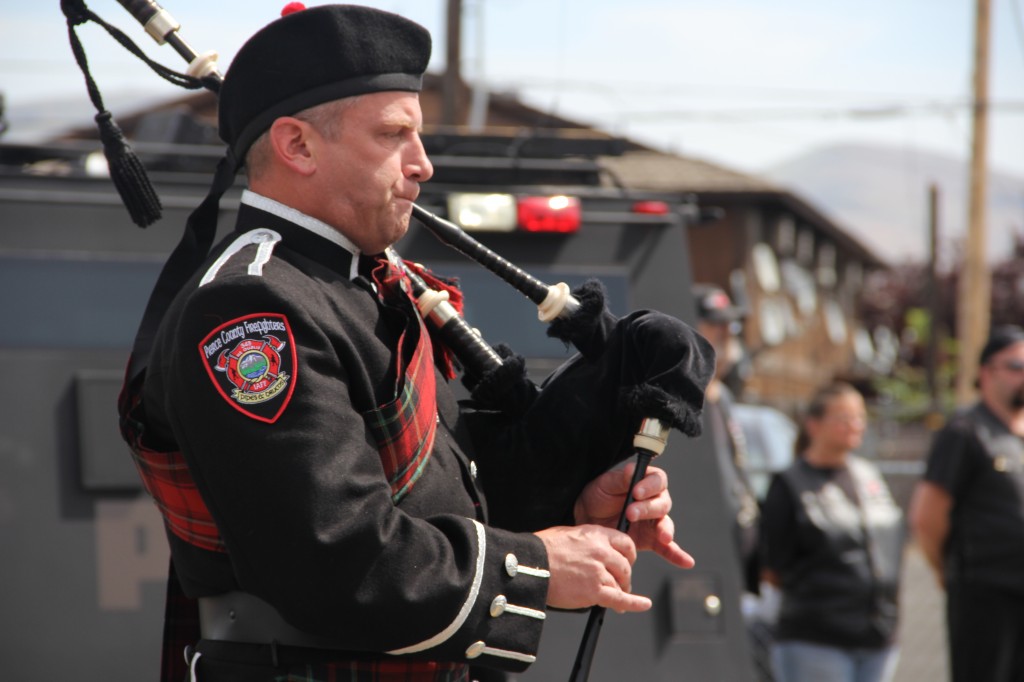
<path fill-rule="evenodd" d="M 650 599 L 630 593 L 637 549 L 627 534 L 585 524 L 545 528 L 535 535 L 548 550 L 549 606 L 597 605 L 618 612 L 650 608 Z"/>

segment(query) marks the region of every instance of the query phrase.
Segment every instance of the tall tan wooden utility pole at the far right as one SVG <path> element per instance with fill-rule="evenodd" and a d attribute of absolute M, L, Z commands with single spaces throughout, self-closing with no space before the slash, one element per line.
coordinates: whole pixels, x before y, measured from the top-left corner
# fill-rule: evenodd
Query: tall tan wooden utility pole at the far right
<path fill-rule="evenodd" d="M 978 354 L 991 317 L 991 275 L 985 262 L 986 198 L 988 194 L 988 34 L 991 1 L 977 0 L 974 33 L 974 109 L 971 141 L 971 197 L 968 208 L 967 250 L 956 304 L 959 340 L 956 402 L 975 395 Z"/>

